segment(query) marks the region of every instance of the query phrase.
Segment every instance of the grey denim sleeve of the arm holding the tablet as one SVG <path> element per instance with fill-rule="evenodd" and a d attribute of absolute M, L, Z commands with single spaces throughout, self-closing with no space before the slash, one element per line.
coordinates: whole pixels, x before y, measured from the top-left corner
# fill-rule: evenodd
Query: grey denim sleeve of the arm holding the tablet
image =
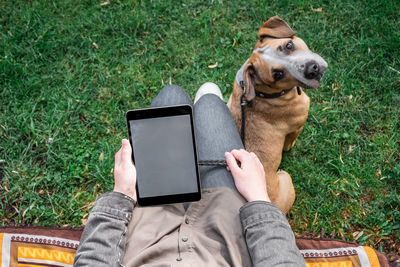
<path fill-rule="evenodd" d="M 121 266 L 134 201 L 118 192 L 101 195 L 83 230 L 74 266 Z"/>

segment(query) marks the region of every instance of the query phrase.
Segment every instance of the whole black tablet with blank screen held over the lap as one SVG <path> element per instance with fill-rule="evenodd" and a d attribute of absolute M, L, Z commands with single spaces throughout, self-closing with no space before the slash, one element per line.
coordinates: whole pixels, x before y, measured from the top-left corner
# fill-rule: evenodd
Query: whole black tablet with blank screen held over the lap
<path fill-rule="evenodd" d="M 139 205 L 200 200 L 192 107 L 130 110 L 126 119 Z"/>

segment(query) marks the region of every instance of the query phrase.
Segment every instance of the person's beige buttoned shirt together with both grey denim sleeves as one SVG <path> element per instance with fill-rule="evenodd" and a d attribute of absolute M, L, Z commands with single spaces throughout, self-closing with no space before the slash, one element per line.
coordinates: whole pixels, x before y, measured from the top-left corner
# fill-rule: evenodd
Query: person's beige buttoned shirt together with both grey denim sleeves
<path fill-rule="evenodd" d="M 74 266 L 143 265 L 305 266 L 305 262 L 285 215 L 269 202 L 245 203 L 229 189 L 204 190 L 202 200 L 185 211 L 182 204 L 135 208 L 134 201 L 121 193 L 101 195 Z"/>

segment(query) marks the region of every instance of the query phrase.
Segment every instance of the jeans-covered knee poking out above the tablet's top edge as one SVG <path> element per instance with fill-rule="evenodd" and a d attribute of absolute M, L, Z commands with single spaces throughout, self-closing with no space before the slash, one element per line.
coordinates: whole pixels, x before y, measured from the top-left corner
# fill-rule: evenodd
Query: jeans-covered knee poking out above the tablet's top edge
<path fill-rule="evenodd" d="M 188 104 L 193 106 L 189 95 L 177 85 L 167 85 L 153 99 L 152 107 L 163 107 L 172 105 Z"/>

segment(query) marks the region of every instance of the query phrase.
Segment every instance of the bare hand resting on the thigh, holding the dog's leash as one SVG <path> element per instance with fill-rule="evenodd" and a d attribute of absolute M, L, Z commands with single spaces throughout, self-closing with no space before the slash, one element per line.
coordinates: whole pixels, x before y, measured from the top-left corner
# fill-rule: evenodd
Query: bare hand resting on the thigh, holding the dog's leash
<path fill-rule="evenodd" d="M 239 193 L 248 201 L 264 200 L 271 202 L 267 192 L 264 167 L 256 154 L 244 149 L 225 152 L 227 169 L 231 171 Z M 240 167 L 237 164 L 240 162 Z"/>

